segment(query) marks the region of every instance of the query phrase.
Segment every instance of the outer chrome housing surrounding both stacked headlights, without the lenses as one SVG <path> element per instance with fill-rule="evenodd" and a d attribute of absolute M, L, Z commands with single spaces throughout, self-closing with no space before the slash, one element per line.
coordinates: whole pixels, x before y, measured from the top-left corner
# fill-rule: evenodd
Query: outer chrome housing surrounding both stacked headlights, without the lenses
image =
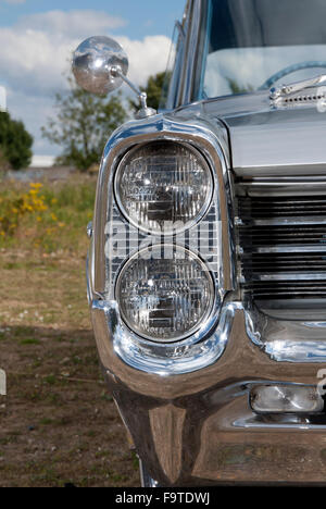
<path fill-rule="evenodd" d="M 121 316 L 115 300 L 115 283 L 118 272 L 126 261 L 141 246 L 146 245 L 148 234 L 138 232 L 139 243 L 130 243 L 126 250 L 116 247 L 117 229 L 124 226 L 126 237 L 130 238 L 137 228 L 127 223 L 122 215 L 114 194 L 114 175 L 124 156 L 136 146 L 150 141 L 177 141 L 195 147 L 206 160 L 213 175 L 213 197 L 202 225 L 210 224 L 217 240 L 214 260 L 208 259 L 208 251 L 193 249 L 192 232 L 185 235 L 186 244 L 204 262 L 209 263 L 215 284 L 215 301 L 211 315 L 200 330 L 177 343 L 154 343 L 130 331 Z M 231 207 L 231 187 L 228 175 L 229 153 L 225 128 L 216 123 L 214 132 L 199 117 L 174 119 L 160 114 L 146 122 L 130 122 L 121 127 L 109 140 L 99 174 L 95 212 L 96 243 L 92 243 L 90 274 L 92 299 L 100 299 L 101 309 L 105 310 L 111 347 L 129 367 L 153 373 L 186 373 L 210 365 L 224 352 L 228 334 L 225 327 L 227 316 L 234 311 L 224 301 L 226 294 L 235 289 L 235 238 Z M 196 229 L 196 228 L 192 228 Z M 152 243 L 162 243 L 161 238 L 151 237 Z M 171 236 L 172 243 L 177 241 Z M 214 240 L 214 243 L 216 241 Z M 113 251 L 113 252 L 112 252 Z"/>

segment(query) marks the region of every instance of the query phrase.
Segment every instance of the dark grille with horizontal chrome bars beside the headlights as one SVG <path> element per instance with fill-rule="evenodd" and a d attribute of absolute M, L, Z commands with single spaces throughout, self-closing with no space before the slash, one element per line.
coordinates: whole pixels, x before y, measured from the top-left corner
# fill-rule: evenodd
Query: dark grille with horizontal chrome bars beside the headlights
<path fill-rule="evenodd" d="M 301 184 L 301 185 L 300 185 Z M 304 185 L 303 185 L 304 184 Z M 241 284 L 255 300 L 326 299 L 326 182 L 242 182 L 238 189 Z"/>

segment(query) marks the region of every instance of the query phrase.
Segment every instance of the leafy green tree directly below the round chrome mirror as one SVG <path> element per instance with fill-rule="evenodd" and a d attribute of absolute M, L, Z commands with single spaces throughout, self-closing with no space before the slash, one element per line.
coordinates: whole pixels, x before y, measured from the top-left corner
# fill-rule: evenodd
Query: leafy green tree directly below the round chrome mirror
<path fill-rule="evenodd" d="M 126 121 L 121 95 L 110 98 L 83 90 L 68 78 L 70 91 L 57 94 L 57 115 L 42 127 L 42 136 L 62 147 L 57 162 L 86 171 L 99 163 L 109 136 Z"/>

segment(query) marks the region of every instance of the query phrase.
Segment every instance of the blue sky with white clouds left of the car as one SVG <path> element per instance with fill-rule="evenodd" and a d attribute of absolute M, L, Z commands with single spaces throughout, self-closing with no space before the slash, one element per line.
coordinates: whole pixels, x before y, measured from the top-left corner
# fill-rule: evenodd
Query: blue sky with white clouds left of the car
<path fill-rule="evenodd" d="M 111 35 L 129 57 L 137 85 L 166 67 L 174 22 L 186 0 L 0 0 L 0 86 L 8 109 L 35 138 L 36 154 L 58 148 L 40 135 L 53 115 L 53 98 L 64 90 L 72 51 L 86 37 Z"/>

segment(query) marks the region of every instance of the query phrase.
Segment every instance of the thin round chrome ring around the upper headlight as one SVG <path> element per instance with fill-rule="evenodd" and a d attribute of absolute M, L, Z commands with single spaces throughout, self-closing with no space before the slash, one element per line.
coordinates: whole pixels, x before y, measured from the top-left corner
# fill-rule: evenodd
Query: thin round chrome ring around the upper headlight
<path fill-rule="evenodd" d="M 126 167 L 127 161 L 130 160 L 131 157 L 134 154 L 136 154 L 136 152 L 138 152 L 139 150 L 146 149 L 147 146 L 151 146 L 151 145 L 158 144 L 158 142 L 166 144 L 166 145 L 168 145 L 168 144 L 178 145 L 179 147 L 183 147 L 184 149 L 188 150 L 192 156 L 195 156 L 200 161 L 203 170 L 205 171 L 206 178 L 208 178 L 206 196 L 205 196 L 205 199 L 204 199 L 203 204 L 200 208 L 199 212 L 191 220 L 189 220 L 187 223 L 185 223 L 183 226 L 177 226 L 177 227 L 173 227 L 173 228 L 170 228 L 170 229 L 166 228 L 164 231 L 162 231 L 161 228 L 159 229 L 159 228 L 146 227 L 143 224 L 141 224 L 140 222 L 138 222 L 137 220 L 131 218 L 129 212 L 126 210 L 126 207 L 123 203 L 123 200 L 121 198 L 121 190 L 120 190 L 121 179 L 122 179 L 122 176 L 123 176 L 122 174 L 124 172 L 124 169 Z M 124 157 L 120 161 L 120 163 L 118 163 L 118 165 L 117 165 L 117 167 L 116 167 L 116 170 L 114 172 L 114 196 L 115 196 L 115 200 L 116 200 L 116 203 L 117 203 L 117 206 L 120 208 L 120 211 L 121 211 L 122 215 L 135 228 L 139 229 L 140 232 L 143 232 L 147 235 L 162 235 L 162 234 L 164 234 L 166 236 L 168 236 L 168 235 L 178 235 L 178 234 L 180 234 L 183 232 L 186 232 L 187 229 L 190 229 L 193 225 L 196 225 L 200 221 L 202 221 L 203 218 L 205 216 L 205 214 L 208 213 L 208 211 L 210 209 L 210 206 L 212 203 L 213 195 L 214 195 L 214 178 L 213 178 L 213 174 L 212 174 L 212 170 L 211 170 L 210 164 L 208 163 L 208 161 L 205 160 L 203 154 L 197 148 L 192 147 L 191 145 L 189 145 L 187 142 L 179 141 L 179 140 L 173 140 L 173 139 L 156 140 L 156 139 L 153 139 L 153 140 L 148 141 L 146 144 L 137 145 L 137 146 L 133 147 L 129 151 L 127 151 L 124 154 Z"/>

